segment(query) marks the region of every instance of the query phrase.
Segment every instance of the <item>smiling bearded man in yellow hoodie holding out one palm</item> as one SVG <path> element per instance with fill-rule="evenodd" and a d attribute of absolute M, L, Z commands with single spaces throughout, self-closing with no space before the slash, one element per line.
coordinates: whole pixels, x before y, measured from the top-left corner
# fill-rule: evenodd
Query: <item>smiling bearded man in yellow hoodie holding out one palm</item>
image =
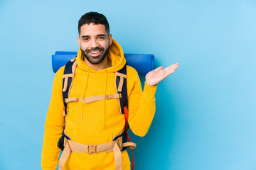
<path fill-rule="evenodd" d="M 58 70 L 53 81 L 43 138 L 42 169 L 56 169 L 60 155 L 57 142 L 64 134 L 64 128 L 65 149 L 64 156 L 61 156 L 64 158 L 60 159 L 59 169 L 130 169 L 127 151 L 120 152 L 120 141 L 113 140 L 124 131 L 124 115 L 118 98 L 105 98 L 117 94 L 115 78 L 116 72 L 126 64 L 124 52 L 112 40 L 107 18 L 100 13 L 85 13 L 78 23 L 78 32 L 80 50 L 75 60 L 77 66 L 70 94 L 65 99 L 70 103 L 64 108 L 67 109 L 64 116 L 65 67 Z M 126 68 L 129 127 L 135 135 L 144 136 L 155 113 L 156 84 L 175 72 L 178 63 L 146 74 L 143 92 L 136 70 L 129 66 Z M 85 102 L 95 96 L 104 98 Z M 100 146 L 105 145 L 109 151 L 100 151 Z"/>

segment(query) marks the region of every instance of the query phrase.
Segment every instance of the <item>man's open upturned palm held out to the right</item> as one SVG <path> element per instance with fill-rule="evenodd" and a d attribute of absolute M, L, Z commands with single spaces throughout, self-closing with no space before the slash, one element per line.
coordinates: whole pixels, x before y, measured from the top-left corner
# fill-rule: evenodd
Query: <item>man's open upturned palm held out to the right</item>
<path fill-rule="evenodd" d="M 149 86 L 155 86 L 160 81 L 164 80 L 170 74 L 175 72 L 175 69 L 178 68 L 178 63 L 171 64 L 169 67 L 158 67 L 157 69 L 152 70 L 148 74 L 146 74 L 146 84 Z"/>

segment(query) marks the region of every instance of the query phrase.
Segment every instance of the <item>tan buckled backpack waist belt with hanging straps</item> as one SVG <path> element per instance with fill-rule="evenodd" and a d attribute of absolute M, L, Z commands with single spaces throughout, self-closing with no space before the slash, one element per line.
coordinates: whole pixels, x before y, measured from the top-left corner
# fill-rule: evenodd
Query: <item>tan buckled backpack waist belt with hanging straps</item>
<path fill-rule="evenodd" d="M 115 138 L 115 137 L 114 137 Z M 136 144 L 133 142 L 122 142 L 122 136 L 118 137 L 117 140 L 112 142 L 107 142 L 101 145 L 82 145 L 78 142 L 74 142 L 65 138 L 65 147 L 63 153 L 61 154 L 59 160 L 59 169 L 63 170 L 63 166 L 67 161 L 71 152 L 75 153 L 88 153 L 97 154 L 99 152 L 114 152 L 114 162 L 116 164 L 116 170 L 122 170 L 122 155 L 121 151 L 123 147 L 129 147 L 129 149 L 134 149 Z"/>

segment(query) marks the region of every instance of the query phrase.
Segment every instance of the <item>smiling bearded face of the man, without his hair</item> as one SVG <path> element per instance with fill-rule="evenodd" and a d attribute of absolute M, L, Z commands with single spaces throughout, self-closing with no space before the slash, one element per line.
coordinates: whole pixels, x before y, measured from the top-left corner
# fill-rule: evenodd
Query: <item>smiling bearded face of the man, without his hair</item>
<path fill-rule="evenodd" d="M 108 35 L 104 25 L 90 23 L 81 26 L 78 45 L 85 60 L 91 64 L 100 64 L 105 59 L 111 44 L 112 35 Z"/>

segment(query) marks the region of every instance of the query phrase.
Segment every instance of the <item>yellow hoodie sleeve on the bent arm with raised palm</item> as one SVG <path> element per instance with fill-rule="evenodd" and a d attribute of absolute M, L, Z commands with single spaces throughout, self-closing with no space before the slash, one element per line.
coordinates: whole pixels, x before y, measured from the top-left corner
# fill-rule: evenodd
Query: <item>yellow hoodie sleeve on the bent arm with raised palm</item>
<path fill-rule="evenodd" d="M 156 111 L 156 86 L 145 83 L 142 92 L 141 81 L 136 70 L 127 68 L 127 93 L 129 109 L 129 127 L 135 135 L 143 137 L 148 132 Z"/>

